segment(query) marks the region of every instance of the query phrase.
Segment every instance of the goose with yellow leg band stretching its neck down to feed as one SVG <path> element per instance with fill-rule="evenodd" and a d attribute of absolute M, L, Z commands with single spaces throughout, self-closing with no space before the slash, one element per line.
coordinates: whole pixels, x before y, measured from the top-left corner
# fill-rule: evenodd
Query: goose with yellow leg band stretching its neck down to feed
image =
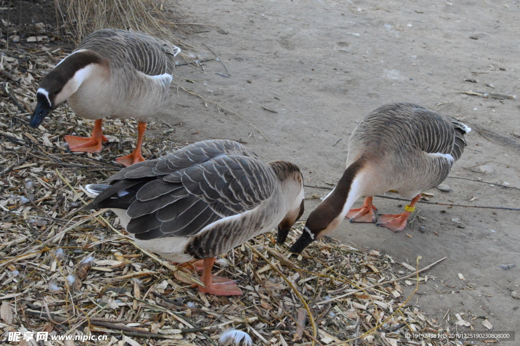
<path fill-rule="evenodd" d="M 396 190 L 411 199 L 401 214 L 380 215 L 378 226 L 405 228 L 423 190 L 443 182 L 464 151 L 471 128 L 443 113 L 408 102 L 374 109 L 348 142 L 347 165 L 331 193 L 313 210 L 303 234 L 291 247 L 300 253 L 328 235 L 347 216 L 350 222 L 376 221 L 372 196 Z M 350 209 L 366 196 L 361 208 Z"/>

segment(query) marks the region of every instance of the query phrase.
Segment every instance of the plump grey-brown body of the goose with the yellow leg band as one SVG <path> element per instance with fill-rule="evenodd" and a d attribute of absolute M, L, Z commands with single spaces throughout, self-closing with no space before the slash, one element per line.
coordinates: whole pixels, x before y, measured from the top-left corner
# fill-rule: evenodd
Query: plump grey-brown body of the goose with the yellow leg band
<path fill-rule="evenodd" d="M 446 114 L 399 102 L 374 109 L 349 139 L 347 166 L 361 157 L 375 171 L 367 196 L 408 195 L 440 184 L 464 151 L 469 127 Z M 379 173 L 379 174 L 378 174 Z M 413 196 L 412 196 L 413 197 Z"/>

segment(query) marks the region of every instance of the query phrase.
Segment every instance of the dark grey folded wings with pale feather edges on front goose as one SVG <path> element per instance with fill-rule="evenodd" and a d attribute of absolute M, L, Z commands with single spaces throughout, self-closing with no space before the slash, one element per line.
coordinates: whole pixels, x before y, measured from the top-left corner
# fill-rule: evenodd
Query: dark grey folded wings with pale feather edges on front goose
<path fill-rule="evenodd" d="M 269 166 L 232 141 L 205 141 L 132 165 L 90 208 L 122 208 L 137 239 L 186 237 L 259 206 L 275 189 Z"/>

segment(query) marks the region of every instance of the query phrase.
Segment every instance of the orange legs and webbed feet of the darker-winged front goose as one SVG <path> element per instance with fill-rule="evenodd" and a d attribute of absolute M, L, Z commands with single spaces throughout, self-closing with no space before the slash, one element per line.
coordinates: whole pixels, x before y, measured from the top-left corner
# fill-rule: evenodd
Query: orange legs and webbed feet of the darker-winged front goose
<path fill-rule="evenodd" d="M 211 269 L 213 268 L 213 264 L 215 263 L 216 258 L 209 258 L 203 260 L 203 268 L 202 268 L 202 282 L 204 283 L 204 287 L 199 285 L 199 291 L 202 293 L 210 293 L 215 296 L 241 296 L 243 293 L 238 288 L 235 280 L 227 279 L 225 277 L 211 275 Z M 200 270 L 200 262 L 197 261 L 191 263 L 196 270 Z M 174 274 L 175 275 L 175 274 Z M 187 278 L 182 277 L 181 275 L 175 275 L 175 277 L 183 281 L 184 283 L 191 284 L 191 281 Z M 192 287 L 195 287 L 193 285 Z"/>

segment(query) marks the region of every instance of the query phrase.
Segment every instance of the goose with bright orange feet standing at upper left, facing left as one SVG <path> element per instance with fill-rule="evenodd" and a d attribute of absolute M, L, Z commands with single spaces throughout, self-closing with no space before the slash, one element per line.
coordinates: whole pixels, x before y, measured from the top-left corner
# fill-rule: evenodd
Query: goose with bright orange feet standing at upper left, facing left
<path fill-rule="evenodd" d="M 108 140 L 102 118 L 139 120 L 134 151 L 116 159 L 129 166 L 141 155 L 146 122 L 164 104 L 180 49 L 145 33 L 119 29 L 93 32 L 71 55 L 61 60 L 40 83 L 30 126 L 38 127 L 47 114 L 69 101 L 80 117 L 95 120 L 92 137 L 65 136 L 71 151 L 98 152 Z"/>

